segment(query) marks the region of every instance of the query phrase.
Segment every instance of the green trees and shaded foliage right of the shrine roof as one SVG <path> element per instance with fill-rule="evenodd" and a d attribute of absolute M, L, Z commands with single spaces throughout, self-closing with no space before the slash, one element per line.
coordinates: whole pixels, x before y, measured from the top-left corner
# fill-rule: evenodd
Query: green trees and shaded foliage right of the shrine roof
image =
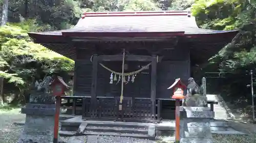
<path fill-rule="evenodd" d="M 240 30 L 229 44 L 209 59 L 203 71 L 223 73 L 225 78 L 218 79 L 218 82 L 209 79 L 209 87 L 214 87 L 212 91 L 219 91 L 217 94 L 225 95 L 226 101 L 241 106 L 251 102 L 246 85 L 250 83 L 249 70 L 255 71 L 256 65 L 255 4 L 241 0 L 199 0 L 192 8 L 197 23 L 203 28 Z"/>

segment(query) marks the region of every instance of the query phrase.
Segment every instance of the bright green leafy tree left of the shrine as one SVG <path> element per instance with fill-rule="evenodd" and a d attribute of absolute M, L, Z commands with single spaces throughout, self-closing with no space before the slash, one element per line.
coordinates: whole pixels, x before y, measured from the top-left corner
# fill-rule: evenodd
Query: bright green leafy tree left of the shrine
<path fill-rule="evenodd" d="M 42 79 L 51 74 L 67 75 L 74 70 L 74 61 L 29 39 L 27 31 L 41 30 L 40 26 L 26 25 L 31 21 L 0 27 L 0 76 L 9 83 L 5 84 L 5 89 L 10 88 L 10 91 L 15 88 L 18 92 L 29 90 L 32 77 Z"/>

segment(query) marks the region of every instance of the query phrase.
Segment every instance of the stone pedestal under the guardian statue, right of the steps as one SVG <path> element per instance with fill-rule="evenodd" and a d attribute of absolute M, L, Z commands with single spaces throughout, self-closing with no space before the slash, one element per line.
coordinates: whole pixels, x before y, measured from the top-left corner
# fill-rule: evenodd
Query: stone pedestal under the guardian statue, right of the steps
<path fill-rule="evenodd" d="M 210 119 L 214 111 L 210 111 L 205 96 L 191 96 L 186 105 L 181 107 L 180 142 L 212 143 Z"/>

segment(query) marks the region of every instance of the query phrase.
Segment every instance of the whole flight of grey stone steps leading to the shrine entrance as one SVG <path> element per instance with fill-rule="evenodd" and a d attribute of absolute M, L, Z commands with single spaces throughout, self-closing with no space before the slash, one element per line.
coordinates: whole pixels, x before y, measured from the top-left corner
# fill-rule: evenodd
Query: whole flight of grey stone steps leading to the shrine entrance
<path fill-rule="evenodd" d="M 69 124 L 61 125 L 60 135 L 118 135 L 126 137 L 154 138 L 155 125 L 124 122 L 83 121 L 79 126 L 69 128 Z"/>

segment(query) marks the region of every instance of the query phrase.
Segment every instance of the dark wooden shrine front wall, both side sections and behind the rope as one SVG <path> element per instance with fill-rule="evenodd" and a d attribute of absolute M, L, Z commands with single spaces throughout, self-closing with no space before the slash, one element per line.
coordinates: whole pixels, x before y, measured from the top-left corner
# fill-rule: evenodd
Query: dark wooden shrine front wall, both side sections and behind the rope
<path fill-rule="evenodd" d="M 92 52 L 88 49 L 77 49 L 74 75 L 74 94 L 76 96 L 90 96 L 92 83 L 92 62 L 90 58 L 93 53 L 97 52 Z M 178 45 L 175 49 L 162 51 L 161 55 L 163 59 L 157 64 L 156 98 L 169 99 L 172 90 L 167 90 L 167 88 L 175 79 L 181 78 L 186 83 L 190 76 L 189 49 Z M 141 63 L 141 65 L 146 64 Z M 109 66 L 111 67 L 111 65 Z M 132 69 L 132 71 L 134 70 Z M 135 78 L 134 83 L 130 82 L 125 85 L 124 94 L 150 98 L 150 71 L 150 69 L 143 71 L 148 72 L 148 74 L 141 73 Z M 97 96 L 120 96 L 120 83 L 117 85 L 109 84 L 110 74 L 111 72 L 98 65 Z"/>

